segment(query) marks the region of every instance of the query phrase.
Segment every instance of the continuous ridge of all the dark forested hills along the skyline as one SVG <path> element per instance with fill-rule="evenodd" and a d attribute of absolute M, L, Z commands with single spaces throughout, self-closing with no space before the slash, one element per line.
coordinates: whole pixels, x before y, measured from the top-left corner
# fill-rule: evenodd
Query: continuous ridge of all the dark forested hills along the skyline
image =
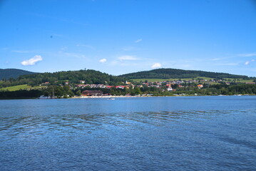
<path fill-rule="evenodd" d="M 29 75 L 29 76 L 28 76 Z M 60 81 L 60 80 L 86 80 L 87 83 L 109 83 L 110 81 L 119 82 L 127 79 L 140 79 L 140 78 L 197 78 L 197 77 L 208 77 L 208 78 L 242 78 L 248 79 L 248 76 L 234 75 L 230 73 L 215 73 L 208 71 L 190 71 L 173 68 L 160 68 L 151 71 L 139 71 L 135 73 L 127 73 L 121 76 L 111 76 L 107 73 L 101 73 L 100 71 L 60 71 L 56 73 L 34 73 L 31 71 L 24 71 L 21 69 L 0 69 L 0 80 L 9 78 L 29 79 L 29 81 Z M 49 79 L 51 78 L 51 79 Z M 28 81 L 28 80 L 27 80 Z"/>

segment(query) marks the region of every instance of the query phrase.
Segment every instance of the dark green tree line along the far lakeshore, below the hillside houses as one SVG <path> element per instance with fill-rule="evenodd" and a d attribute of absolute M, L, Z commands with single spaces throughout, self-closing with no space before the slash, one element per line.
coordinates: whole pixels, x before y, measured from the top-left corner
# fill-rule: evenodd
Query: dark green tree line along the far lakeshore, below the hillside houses
<path fill-rule="evenodd" d="M 8 98 L 38 98 L 40 95 L 53 96 L 56 98 L 68 98 L 74 95 L 81 95 L 83 90 L 102 90 L 104 94 L 109 95 L 237 95 L 237 94 L 247 94 L 256 95 L 256 85 L 255 84 L 240 84 L 240 85 L 204 85 L 204 88 L 197 88 L 195 86 L 184 86 L 176 88 L 175 91 L 168 91 L 166 86 L 163 85 L 162 88 L 156 87 L 135 87 L 135 88 L 76 88 L 71 89 L 69 86 L 48 86 L 43 90 L 17 90 L 17 91 L 0 91 L 0 99 Z"/>

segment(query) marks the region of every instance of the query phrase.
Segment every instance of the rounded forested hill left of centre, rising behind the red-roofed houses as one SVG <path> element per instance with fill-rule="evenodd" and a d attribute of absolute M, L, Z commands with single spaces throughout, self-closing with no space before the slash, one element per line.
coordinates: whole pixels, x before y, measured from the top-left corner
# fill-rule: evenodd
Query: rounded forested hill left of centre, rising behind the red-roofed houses
<path fill-rule="evenodd" d="M 16 79 L 16 84 L 29 84 L 36 86 L 41 83 L 63 83 L 68 81 L 69 83 L 79 83 L 79 81 L 85 81 L 86 84 L 108 84 L 116 85 L 121 82 L 125 82 L 125 78 L 118 76 L 111 76 L 107 73 L 101 73 L 94 70 L 80 70 L 80 71 L 60 71 L 56 73 L 38 73 L 32 75 L 20 76 Z"/>

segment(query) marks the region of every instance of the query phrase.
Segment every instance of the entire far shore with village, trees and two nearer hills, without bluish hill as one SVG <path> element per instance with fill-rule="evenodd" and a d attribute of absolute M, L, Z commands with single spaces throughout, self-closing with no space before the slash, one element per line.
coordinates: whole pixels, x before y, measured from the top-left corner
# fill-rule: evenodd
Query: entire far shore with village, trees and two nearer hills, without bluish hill
<path fill-rule="evenodd" d="M 2 80 L 0 99 L 256 95 L 255 83 L 255 77 L 167 68 L 123 76 L 62 71 Z"/>

